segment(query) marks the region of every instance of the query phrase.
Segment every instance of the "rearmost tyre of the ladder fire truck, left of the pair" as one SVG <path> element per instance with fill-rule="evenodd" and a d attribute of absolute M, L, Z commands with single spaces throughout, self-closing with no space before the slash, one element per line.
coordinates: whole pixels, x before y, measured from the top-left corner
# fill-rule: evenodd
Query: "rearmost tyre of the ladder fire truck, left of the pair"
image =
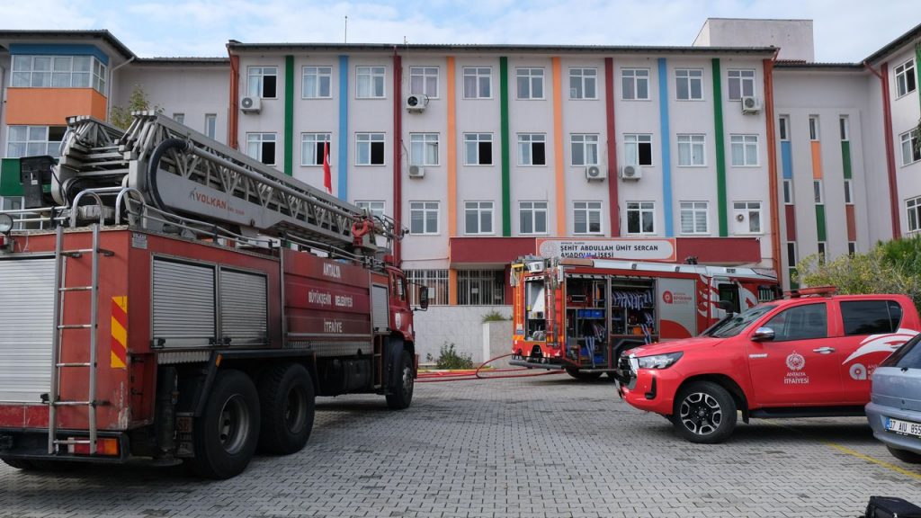
<path fill-rule="evenodd" d="M 202 416 L 195 418 L 195 456 L 199 477 L 235 477 L 250 465 L 259 442 L 259 393 L 240 371 L 218 371 Z"/>

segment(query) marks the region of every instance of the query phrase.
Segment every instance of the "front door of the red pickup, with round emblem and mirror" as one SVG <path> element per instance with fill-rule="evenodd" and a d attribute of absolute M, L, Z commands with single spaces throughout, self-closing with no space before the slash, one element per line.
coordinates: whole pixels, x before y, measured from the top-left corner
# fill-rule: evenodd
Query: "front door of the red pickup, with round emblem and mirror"
<path fill-rule="evenodd" d="M 825 301 L 800 304 L 760 324 L 774 331 L 773 340 L 752 341 L 757 326 L 746 330 L 757 406 L 829 406 L 841 399 L 843 350 L 829 337 L 828 316 Z"/>

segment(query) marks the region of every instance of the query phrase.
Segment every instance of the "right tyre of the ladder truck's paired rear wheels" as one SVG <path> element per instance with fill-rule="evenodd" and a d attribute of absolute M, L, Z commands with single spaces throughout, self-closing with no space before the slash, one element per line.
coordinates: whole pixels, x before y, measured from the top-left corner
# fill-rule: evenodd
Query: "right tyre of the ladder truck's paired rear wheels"
<path fill-rule="evenodd" d="M 310 373 L 299 363 L 274 365 L 262 373 L 261 452 L 286 455 L 299 452 L 307 444 L 313 430 L 314 394 Z"/>

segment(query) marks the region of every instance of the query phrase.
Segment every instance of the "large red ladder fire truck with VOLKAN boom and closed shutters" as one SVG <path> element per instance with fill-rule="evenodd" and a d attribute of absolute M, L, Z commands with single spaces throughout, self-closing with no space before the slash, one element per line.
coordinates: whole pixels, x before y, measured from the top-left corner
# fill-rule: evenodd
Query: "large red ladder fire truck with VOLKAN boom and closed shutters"
<path fill-rule="evenodd" d="M 410 406 L 390 218 L 163 115 L 74 117 L 0 214 L 0 460 L 242 472 L 309 439 L 316 395 Z M 417 289 L 419 308 L 427 290 Z"/>

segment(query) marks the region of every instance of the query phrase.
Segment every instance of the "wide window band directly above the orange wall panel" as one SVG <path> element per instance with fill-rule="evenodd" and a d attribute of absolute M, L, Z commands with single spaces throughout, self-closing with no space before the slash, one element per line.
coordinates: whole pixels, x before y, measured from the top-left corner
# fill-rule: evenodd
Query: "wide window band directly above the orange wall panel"
<path fill-rule="evenodd" d="M 88 55 L 78 56 L 13 56 L 13 77 L 10 86 L 16 88 L 93 88 L 106 93 L 108 67 Z"/>

